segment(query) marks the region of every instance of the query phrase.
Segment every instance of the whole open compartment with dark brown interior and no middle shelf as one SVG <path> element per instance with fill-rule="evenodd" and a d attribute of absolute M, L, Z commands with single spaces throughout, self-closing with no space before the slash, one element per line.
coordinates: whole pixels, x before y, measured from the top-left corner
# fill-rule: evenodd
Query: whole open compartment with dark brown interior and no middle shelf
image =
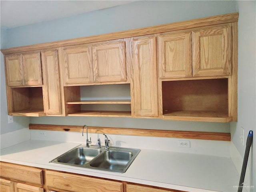
<path fill-rule="evenodd" d="M 162 82 L 163 116 L 172 120 L 229 122 L 228 79 Z"/>

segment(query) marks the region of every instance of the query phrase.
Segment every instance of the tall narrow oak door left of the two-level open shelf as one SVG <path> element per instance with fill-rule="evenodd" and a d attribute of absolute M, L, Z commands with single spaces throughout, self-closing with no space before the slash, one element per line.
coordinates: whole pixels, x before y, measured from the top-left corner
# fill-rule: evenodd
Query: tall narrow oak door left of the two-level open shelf
<path fill-rule="evenodd" d="M 60 78 L 57 50 L 42 51 L 43 97 L 46 114 L 61 114 Z"/>

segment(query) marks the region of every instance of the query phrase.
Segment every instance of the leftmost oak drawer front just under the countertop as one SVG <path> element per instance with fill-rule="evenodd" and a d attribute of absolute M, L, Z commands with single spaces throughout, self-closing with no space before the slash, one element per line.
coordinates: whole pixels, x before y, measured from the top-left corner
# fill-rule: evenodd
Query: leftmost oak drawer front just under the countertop
<path fill-rule="evenodd" d="M 1 162 L 1 177 L 43 185 L 43 171 L 39 168 Z"/>

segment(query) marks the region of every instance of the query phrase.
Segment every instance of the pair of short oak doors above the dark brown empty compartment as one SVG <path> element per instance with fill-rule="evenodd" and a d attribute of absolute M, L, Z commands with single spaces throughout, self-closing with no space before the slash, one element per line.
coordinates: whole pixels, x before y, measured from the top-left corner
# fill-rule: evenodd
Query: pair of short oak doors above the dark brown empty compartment
<path fill-rule="evenodd" d="M 160 78 L 218 76 L 231 72 L 230 26 L 160 35 L 158 46 Z"/>

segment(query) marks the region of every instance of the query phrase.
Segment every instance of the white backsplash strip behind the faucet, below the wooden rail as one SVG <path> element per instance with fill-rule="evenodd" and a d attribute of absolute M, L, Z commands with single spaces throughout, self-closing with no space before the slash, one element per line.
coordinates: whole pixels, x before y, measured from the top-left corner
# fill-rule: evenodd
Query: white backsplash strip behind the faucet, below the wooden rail
<path fill-rule="evenodd" d="M 85 144 L 86 131 L 84 137 L 81 132 L 64 132 L 64 131 L 45 131 L 46 136 L 40 136 L 40 130 L 30 130 L 32 140 L 49 140 L 59 142 L 77 142 Z M 110 146 L 126 148 L 147 148 L 154 150 L 168 150 L 173 152 L 184 152 L 193 154 L 205 154 L 209 156 L 230 157 L 230 142 L 198 140 L 198 139 L 181 139 L 181 138 L 163 138 L 163 137 L 146 137 L 146 136 L 127 136 L 107 134 L 110 140 Z M 91 145 L 97 145 L 100 138 L 104 146 L 104 136 L 102 134 L 88 133 L 88 138 L 92 138 Z M 178 140 L 189 140 L 190 148 L 178 147 Z"/>

